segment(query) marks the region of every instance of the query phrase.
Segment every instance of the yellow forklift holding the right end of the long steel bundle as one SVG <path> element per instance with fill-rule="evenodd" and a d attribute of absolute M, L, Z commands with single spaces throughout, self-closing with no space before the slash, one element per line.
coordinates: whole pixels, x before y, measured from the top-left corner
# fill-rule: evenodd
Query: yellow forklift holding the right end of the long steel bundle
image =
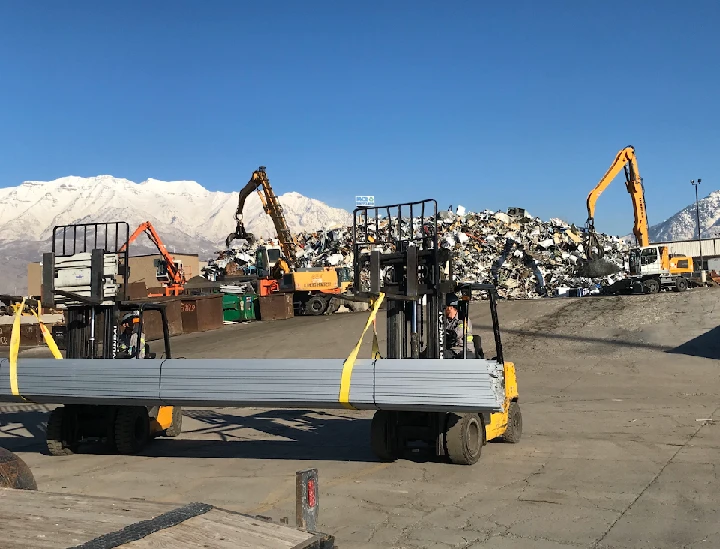
<path fill-rule="evenodd" d="M 451 463 L 472 465 L 490 440 L 519 442 L 522 414 L 517 379 L 514 364 L 503 356 L 496 289 L 491 284 L 455 281 L 449 250 L 438 245 L 437 202 L 358 207 L 353 216 L 353 293 L 356 298 L 385 294 L 384 358 L 450 360 L 444 310 L 447 296 L 457 294 L 461 296 L 462 352 L 453 354 L 452 359 L 476 360 L 479 368 L 495 372 L 495 391 L 502 401 L 498 413 L 379 410 L 370 429 L 375 455 L 392 461 L 409 449 L 419 449 L 419 445 Z M 491 359 L 484 358 L 479 335 L 468 341 L 465 319 L 473 293 L 484 293 L 490 307 L 495 339 Z"/>

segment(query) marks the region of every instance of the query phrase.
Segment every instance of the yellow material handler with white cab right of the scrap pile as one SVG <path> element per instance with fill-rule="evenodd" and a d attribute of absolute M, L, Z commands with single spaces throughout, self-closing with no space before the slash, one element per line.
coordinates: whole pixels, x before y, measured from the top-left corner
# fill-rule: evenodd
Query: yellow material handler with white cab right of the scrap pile
<path fill-rule="evenodd" d="M 640 177 L 635 148 L 630 145 L 615 156 L 615 160 L 600 182 L 587 197 L 588 219 L 586 223 L 585 253 L 590 264 L 602 260 L 603 244 L 595 232 L 595 203 L 602 192 L 615 179 L 621 170 L 625 170 L 625 186 L 632 199 L 635 224 L 633 234 L 637 246 L 630 250 L 630 284 L 635 283 L 644 293 L 657 293 L 661 289 L 683 292 L 688 289 L 688 279 L 684 275 L 694 271 L 690 257 L 670 254 L 667 246 L 650 244 L 650 229 L 645 208 L 645 192 Z M 592 270 L 592 268 L 591 268 Z"/>

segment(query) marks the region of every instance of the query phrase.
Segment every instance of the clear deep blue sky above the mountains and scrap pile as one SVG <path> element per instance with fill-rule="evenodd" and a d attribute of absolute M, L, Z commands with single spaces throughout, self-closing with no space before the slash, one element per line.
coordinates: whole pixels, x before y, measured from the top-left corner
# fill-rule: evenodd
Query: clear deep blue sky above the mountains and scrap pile
<path fill-rule="evenodd" d="M 0 186 L 193 179 L 582 224 L 636 148 L 651 224 L 720 189 L 720 2 L 0 3 Z M 502 4 L 502 5 L 499 5 Z M 626 234 L 619 176 L 599 230 Z"/>

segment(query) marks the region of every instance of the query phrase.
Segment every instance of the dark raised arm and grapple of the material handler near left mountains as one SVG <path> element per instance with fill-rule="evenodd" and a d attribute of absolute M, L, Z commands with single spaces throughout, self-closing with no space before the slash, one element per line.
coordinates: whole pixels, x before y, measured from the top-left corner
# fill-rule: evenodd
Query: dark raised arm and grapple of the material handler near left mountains
<path fill-rule="evenodd" d="M 275 232 L 277 233 L 278 240 L 280 241 L 280 248 L 287 259 L 289 268 L 294 269 L 297 264 L 297 256 L 295 253 L 297 243 L 295 242 L 287 221 L 285 220 L 282 206 L 270 186 L 270 180 L 267 178 L 267 174 L 265 173 L 265 166 L 260 166 L 257 170 L 255 170 L 250 178 L 250 181 L 248 181 L 247 185 L 245 185 L 240 191 L 240 195 L 238 197 L 238 207 L 235 211 L 237 226 L 235 228 L 235 232 L 228 235 L 225 240 L 225 245 L 229 248 L 230 242 L 235 239 L 245 239 L 249 242 L 253 242 L 255 240 L 252 233 L 245 231 L 245 225 L 243 224 L 242 219 L 245 201 L 253 191 L 257 191 L 263 205 L 263 210 L 265 210 L 265 213 L 269 215 L 273 221 Z"/>

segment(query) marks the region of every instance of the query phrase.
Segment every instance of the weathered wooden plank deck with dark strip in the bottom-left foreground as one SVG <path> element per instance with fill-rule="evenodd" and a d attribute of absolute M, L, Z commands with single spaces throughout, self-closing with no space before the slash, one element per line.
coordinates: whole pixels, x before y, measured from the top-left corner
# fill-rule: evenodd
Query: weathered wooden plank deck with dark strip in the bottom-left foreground
<path fill-rule="evenodd" d="M 203 503 L 0 488 L 3 549 L 331 549 L 334 538 Z"/>

